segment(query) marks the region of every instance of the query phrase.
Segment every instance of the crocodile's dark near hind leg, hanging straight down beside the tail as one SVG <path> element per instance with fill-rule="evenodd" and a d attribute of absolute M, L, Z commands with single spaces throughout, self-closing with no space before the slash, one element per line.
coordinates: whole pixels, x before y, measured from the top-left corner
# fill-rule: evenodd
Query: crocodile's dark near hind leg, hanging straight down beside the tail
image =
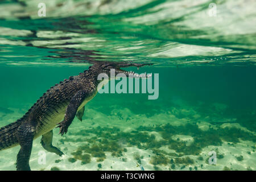
<path fill-rule="evenodd" d="M 30 155 L 32 143 L 35 136 L 35 127 L 25 123 L 20 125 L 17 130 L 17 138 L 20 150 L 17 155 L 16 169 L 18 171 L 30 171 Z"/>

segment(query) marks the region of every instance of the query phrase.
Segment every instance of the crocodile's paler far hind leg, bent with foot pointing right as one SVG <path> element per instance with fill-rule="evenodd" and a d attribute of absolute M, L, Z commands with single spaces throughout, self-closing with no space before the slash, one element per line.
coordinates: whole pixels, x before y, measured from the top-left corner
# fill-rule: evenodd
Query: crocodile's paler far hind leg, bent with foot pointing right
<path fill-rule="evenodd" d="M 44 134 L 41 139 L 42 146 L 48 152 L 53 152 L 59 156 L 63 155 L 63 152 L 61 152 L 59 148 L 52 146 L 52 137 L 53 137 L 52 130 Z"/>

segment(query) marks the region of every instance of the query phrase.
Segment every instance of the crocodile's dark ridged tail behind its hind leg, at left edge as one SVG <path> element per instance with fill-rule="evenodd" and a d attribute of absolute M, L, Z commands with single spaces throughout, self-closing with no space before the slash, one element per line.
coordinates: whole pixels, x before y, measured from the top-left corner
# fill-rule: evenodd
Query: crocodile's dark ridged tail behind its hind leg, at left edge
<path fill-rule="evenodd" d="M 0 128 L 0 150 L 11 148 L 18 144 L 16 138 L 16 131 L 20 125 L 20 119 L 16 122 L 10 123 L 9 125 Z"/>

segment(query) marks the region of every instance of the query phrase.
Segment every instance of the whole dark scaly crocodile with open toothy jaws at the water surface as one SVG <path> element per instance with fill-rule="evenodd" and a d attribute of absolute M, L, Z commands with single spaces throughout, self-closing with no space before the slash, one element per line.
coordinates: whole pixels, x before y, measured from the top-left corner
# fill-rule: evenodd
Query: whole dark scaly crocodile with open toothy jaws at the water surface
<path fill-rule="evenodd" d="M 33 140 L 42 136 L 41 144 L 48 152 L 59 156 L 63 152 L 52 145 L 52 130 L 59 127 L 59 134 L 63 136 L 68 131 L 75 116 L 82 121 L 84 106 L 98 92 L 100 73 L 105 73 L 110 78 L 110 70 L 124 73 L 127 77 L 149 77 L 146 73 L 141 76 L 134 72 L 127 72 L 121 68 L 142 67 L 150 64 L 137 64 L 126 62 L 97 61 L 89 69 L 77 76 L 71 76 L 59 84 L 55 84 L 16 122 L 10 123 L 0 129 L 0 151 L 20 145 L 16 157 L 18 171 L 30 171 L 30 155 Z M 110 80 L 110 79 L 109 79 Z M 103 86 L 103 85 L 102 85 Z"/>

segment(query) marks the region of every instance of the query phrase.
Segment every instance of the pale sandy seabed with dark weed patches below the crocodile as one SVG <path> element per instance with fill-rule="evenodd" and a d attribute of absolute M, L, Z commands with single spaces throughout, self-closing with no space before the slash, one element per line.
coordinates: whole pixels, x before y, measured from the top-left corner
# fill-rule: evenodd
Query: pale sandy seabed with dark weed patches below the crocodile
<path fill-rule="evenodd" d="M 0 122 L 11 123 L 22 115 L 22 110 L 10 108 L 14 111 L 11 114 L 2 114 Z M 121 112 L 121 113 L 120 113 Z M 176 110 L 177 112 L 177 110 Z M 187 114 L 188 110 L 180 110 L 180 113 Z M 256 169 L 256 154 L 255 142 L 250 140 L 241 140 L 238 142 L 227 142 L 222 140 L 220 145 L 209 145 L 201 148 L 199 154 L 182 154 L 168 147 L 168 144 L 163 144 L 159 148 L 146 148 L 138 143 L 132 144 L 129 141 L 123 141 L 123 138 L 116 140 L 119 148 L 122 149 L 120 155 L 113 155 L 113 151 L 104 151 L 104 157 L 90 156 L 90 160 L 82 164 L 79 160 L 79 155 L 74 155 L 74 152 L 81 146 L 97 146 L 104 139 L 97 136 L 97 130 L 108 130 L 111 135 L 115 136 L 116 129 L 119 133 L 133 133 L 139 126 L 144 126 L 150 129 L 156 126 L 185 126 L 189 123 L 189 119 L 177 118 L 174 110 L 172 112 L 160 113 L 147 117 L 142 114 L 134 114 L 129 109 L 122 109 L 119 113 L 105 115 L 94 109 L 87 108 L 86 115 L 83 121 L 80 122 L 77 118 L 69 127 L 68 133 L 61 137 L 59 130 L 53 130 L 53 146 L 60 148 L 64 152 L 63 156 L 47 152 L 40 144 L 40 137 L 34 140 L 30 166 L 32 170 L 141 170 L 137 167 L 137 163 L 143 166 L 144 170 L 255 170 Z M 195 117 L 199 117 L 197 113 L 193 113 Z M 154 124 L 152 124 L 154 123 Z M 253 136 L 255 133 L 242 127 L 239 123 L 221 123 L 211 125 L 205 121 L 193 123 L 199 130 L 207 132 L 209 129 L 226 129 L 236 128 Z M 2 125 L 1 125 L 2 126 Z M 100 126 L 100 127 L 99 127 Z M 113 129 L 113 130 L 111 130 Z M 88 130 L 88 134 L 83 135 Z M 92 131 L 96 131 L 93 133 Z M 118 133 L 117 132 L 117 133 Z M 163 141 L 161 132 L 155 130 L 139 131 L 139 133 L 147 133 L 148 136 L 154 135 L 154 141 Z M 181 134 L 171 135 L 171 139 L 177 142 L 185 143 L 185 146 L 191 145 L 194 142 L 193 136 Z M 89 141 L 93 141 L 93 144 Z M 113 140 L 113 138 L 109 138 Z M 139 138 L 138 138 L 139 140 Z M 88 144 L 89 143 L 89 144 Z M 141 147 L 140 147 L 141 146 Z M 143 147 L 144 146 L 144 147 Z M 86 149 L 85 149 L 86 150 Z M 91 149 L 90 149 L 91 150 Z M 158 150 L 158 151 L 156 151 Z M 0 151 L 0 170 L 15 170 L 16 155 L 18 154 L 19 146 L 8 150 Z M 124 152 L 125 151 L 125 152 Z M 217 151 L 217 161 L 215 165 L 209 164 L 209 152 Z M 42 152 L 46 154 L 45 164 L 42 164 Z M 181 155 L 180 155 L 181 154 Z M 82 154 L 81 154 L 82 155 Z M 160 156 L 160 158 L 159 158 Z M 179 159 L 186 159 L 180 160 Z"/>

